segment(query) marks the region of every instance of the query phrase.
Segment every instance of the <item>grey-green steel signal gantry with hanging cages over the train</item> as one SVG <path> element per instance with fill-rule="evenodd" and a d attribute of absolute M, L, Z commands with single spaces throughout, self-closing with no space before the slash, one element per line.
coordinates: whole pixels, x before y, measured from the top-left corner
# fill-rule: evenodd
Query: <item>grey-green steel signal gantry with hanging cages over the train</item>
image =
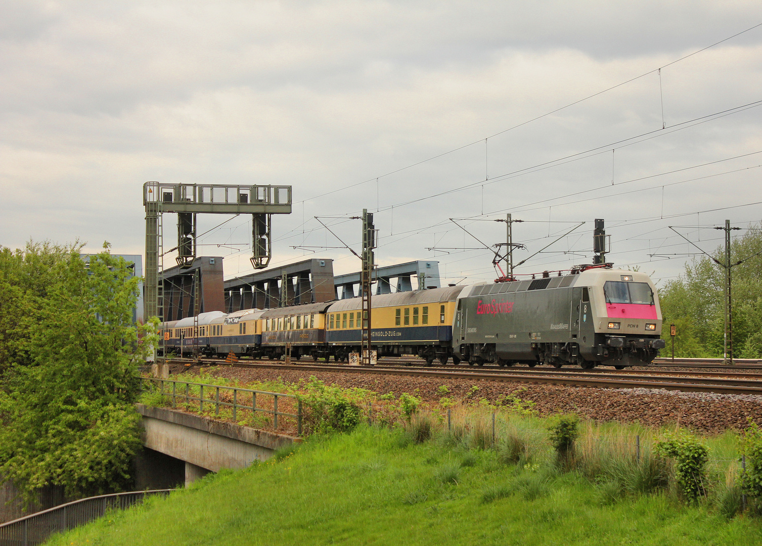
<path fill-rule="evenodd" d="M 197 214 L 251 214 L 251 265 L 264 269 L 270 263 L 271 216 L 291 213 L 290 186 L 241 186 L 230 184 L 143 184 L 146 207 L 146 282 L 144 316 L 164 321 L 164 255 L 178 251 L 181 268 L 196 259 Z M 178 245 L 164 250 L 162 215 L 178 215 Z M 200 292 L 197 288 L 197 294 Z M 197 298 L 197 302 L 199 298 Z M 197 303 L 197 306 L 200 302 Z M 200 308 L 194 308 L 198 316 Z M 159 341 L 163 344 L 163 338 Z"/>

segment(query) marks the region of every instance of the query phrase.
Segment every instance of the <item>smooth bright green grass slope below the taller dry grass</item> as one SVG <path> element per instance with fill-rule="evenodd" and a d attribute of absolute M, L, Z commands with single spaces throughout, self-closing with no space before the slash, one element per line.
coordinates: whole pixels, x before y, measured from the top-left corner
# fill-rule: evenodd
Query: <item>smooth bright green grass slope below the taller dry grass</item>
<path fill-rule="evenodd" d="M 50 544 L 762 544 L 759 519 L 727 519 L 709 502 L 447 443 L 367 426 L 312 437 Z"/>

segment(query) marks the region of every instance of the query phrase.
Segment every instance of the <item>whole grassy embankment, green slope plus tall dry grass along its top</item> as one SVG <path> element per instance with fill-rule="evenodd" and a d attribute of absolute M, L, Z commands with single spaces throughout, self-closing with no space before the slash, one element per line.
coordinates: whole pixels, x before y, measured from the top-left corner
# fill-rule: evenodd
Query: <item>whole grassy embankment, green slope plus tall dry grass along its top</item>
<path fill-rule="evenodd" d="M 559 465 L 548 420 L 504 413 L 491 447 L 489 410 L 431 423 L 312 436 L 51 544 L 762 544 L 760 519 L 728 517 L 733 434 L 706 439 L 709 493 L 686 503 L 650 449 L 658 431 L 583 423 Z"/>

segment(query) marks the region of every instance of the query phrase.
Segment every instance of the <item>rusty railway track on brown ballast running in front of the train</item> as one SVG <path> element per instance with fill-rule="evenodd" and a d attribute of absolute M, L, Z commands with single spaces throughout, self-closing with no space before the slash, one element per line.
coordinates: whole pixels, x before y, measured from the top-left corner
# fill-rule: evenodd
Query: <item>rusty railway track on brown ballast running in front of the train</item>
<path fill-rule="evenodd" d="M 185 363 L 187 360 L 174 359 L 171 362 Z M 217 359 L 203 360 L 202 363 L 219 363 Z M 231 365 L 229 365 L 231 366 Z M 597 388 L 662 388 L 672 391 L 711 392 L 717 394 L 760 394 L 762 395 L 762 374 L 725 372 L 674 372 L 668 370 L 617 370 L 604 369 L 538 369 L 538 368 L 471 368 L 461 366 L 400 366 L 387 362 L 373 368 L 327 363 L 290 363 L 242 360 L 235 367 L 291 369 L 315 372 L 344 372 L 379 375 L 408 375 L 417 377 L 465 378 L 504 382 L 542 383 L 549 385 L 573 385 Z"/>

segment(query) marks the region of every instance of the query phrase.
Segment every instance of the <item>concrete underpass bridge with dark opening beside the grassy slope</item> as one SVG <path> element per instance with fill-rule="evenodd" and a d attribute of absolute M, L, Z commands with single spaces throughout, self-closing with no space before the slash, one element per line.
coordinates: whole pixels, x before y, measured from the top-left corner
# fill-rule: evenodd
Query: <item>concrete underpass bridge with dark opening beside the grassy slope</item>
<path fill-rule="evenodd" d="M 136 459 L 138 490 L 176 487 L 221 468 L 265 461 L 296 436 L 225 423 L 192 413 L 136 404 L 142 415 L 144 452 Z"/>

